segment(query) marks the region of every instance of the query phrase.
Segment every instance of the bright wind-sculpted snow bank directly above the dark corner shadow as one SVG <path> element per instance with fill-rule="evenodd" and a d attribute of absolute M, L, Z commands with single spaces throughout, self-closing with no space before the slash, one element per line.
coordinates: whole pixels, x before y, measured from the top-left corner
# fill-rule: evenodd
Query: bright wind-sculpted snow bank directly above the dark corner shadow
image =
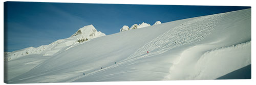
<path fill-rule="evenodd" d="M 222 75 L 225 75 L 234 70 L 238 70 L 238 68 L 243 68 L 247 65 L 251 64 L 251 41 L 232 45 L 228 47 L 221 47 L 206 51 L 201 58 L 198 60 L 195 69 L 196 73 L 191 79 L 215 79 Z M 245 54 L 236 54 L 234 52 L 243 52 Z M 243 57 L 241 57 L 243 56 Z M 229 59 L 232 58 L 232 59 Z M 236 60 L 234 60 L 236 59 Z M 216 62 L 210 62 L 215 61 Z M 222 66 L 216 67 L 216 63 L 228 62 L 223 64 Z M 230 67 L 232 66 L 232 67 Z M 210 68 L 209 68 L 210 67 Z M 223 69 L 225 70 L 216 70 L 215 74 L 212 73 L 213 69 Z"/>

